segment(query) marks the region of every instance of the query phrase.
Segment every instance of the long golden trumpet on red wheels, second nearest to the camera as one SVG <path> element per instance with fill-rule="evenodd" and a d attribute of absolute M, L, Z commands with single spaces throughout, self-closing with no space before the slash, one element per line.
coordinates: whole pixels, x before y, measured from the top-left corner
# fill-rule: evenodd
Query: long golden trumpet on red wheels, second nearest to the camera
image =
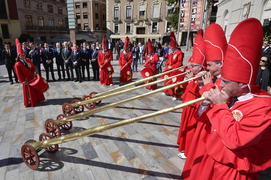
<path fill-rule="evenodd" d="M 45 121 L 45 131 L 47 133 L 51 133 L 52 136 L 59 137 L 61 135 L 59 126 L 63 127 L 63 125 L 64 125 L 64 127 L 65 127 L 67 125 L 69 128 L 66 128 L 66 129 L 70 129 L 71 126 L 72 126 L 71 121 L 73 121 L 73 120 L 84 118 L 84 117 L 87 117 L 87 116 L 91 116 L 91 115 L 93 115 L 95 113 L 99 113 L 99 112 L 111 109 L 113 107 L 117 107 L 117 106 L 125 104 L 125 103 L 129 103 L 131 101 L 134 101 L 134 100 L 137 100 L 137 99 L 140 99 L 140 98 L 145 98 L 146 96 L 153 95 L 153 94 L 155 94 L 157 92 L 164 91 L 164 90 L 179 86 L 179 85 L 181 85 L 181 84 L 183 84 L 185 82 L 189 82 L 189 81 L 191 81 L 193 79 L 197 79 L 197 78 L 198 78 L 198 76 L 195 76 L 195 77 L 192 77 L 192 78 L 187 79 L 185 81 L 179 81 L 179 82 L 176 82 L 175 84 L 171 84 L 171 85 L 168 85 L 166 87 L 156 89 L 154 91 L 150 91 L 150 92 L 147 92 L 147 93 L 144 93 L 144 94 L 141 94 L 141 95 L 134 96 L 132 98 L 121 100 L 121 101 L 114 102 L 114 103 L 111 103 L 111 104 L 107 104 L 107 105 L 104 105 L 104 106 L 101 106 L 101 107 L 98 107 L 98 108 L 95 108 L 95 109 L 92 109 L 92 110 L 84 111 L 84 112 L 81 112 L 81 113 L 78 113 L 78 114 L 75 114 L 75 115 L 72 115 L 72 116 L 57 119 L 55 121 L 53 119 L 47 119 Z"/>

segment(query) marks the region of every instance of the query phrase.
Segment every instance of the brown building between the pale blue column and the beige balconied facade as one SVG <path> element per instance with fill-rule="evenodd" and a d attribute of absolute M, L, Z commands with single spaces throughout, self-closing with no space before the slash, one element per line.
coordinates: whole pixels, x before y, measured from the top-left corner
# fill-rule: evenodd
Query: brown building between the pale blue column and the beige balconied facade
<path fill-rule="evenodd" d="M 74 0 L 76 34 L 90 34 L 101 42 L 106 35 L 106 0 Z"/>

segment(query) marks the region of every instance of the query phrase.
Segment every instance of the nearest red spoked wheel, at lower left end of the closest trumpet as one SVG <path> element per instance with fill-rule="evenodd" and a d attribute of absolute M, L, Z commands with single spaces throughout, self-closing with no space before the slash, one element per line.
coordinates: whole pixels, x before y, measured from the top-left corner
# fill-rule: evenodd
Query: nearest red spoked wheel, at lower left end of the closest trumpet
<path fill-rule="evenodd" d="M 21 149 L 23 162 L 32 170 L 36 170 L 39 167 L 39 155 L 36 149 L 30 144 L 24 144 Z"/>

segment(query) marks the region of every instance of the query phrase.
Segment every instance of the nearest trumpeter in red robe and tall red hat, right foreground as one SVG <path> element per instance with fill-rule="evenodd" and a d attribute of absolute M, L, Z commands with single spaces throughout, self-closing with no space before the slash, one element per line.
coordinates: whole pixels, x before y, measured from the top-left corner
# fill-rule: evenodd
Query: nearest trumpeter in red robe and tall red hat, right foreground
<path fill-rule="evenodd" d="M 256 84 L 262 40 L 262 25 L 255 18 L 245 19 L 232 32 L 222 90 L 204 92 L 207 100 L 194 114 L 209 121 L 202 129 L 207 133 L 200 136 L 206 152 L 197 171 L 184 179 L 254 180 L 259 171 L 271 167 L 271 96 Z M 236 61 L 242 66 L 233 66 Z"/>

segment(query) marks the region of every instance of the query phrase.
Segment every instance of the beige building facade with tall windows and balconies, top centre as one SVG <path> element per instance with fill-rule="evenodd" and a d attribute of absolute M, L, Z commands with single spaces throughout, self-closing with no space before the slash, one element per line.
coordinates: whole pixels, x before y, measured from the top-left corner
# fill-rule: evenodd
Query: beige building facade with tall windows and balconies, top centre
<path fill-rule="evenodd" d="M 168 18 L 174 6 L 164 0 L 110 0 L 107 1 L 107 37 L 112 42 L 124 40 L 163 43 L 170 41 L 173 31 Z M 107 38 L 107 39 L 108 39 Z"/>

